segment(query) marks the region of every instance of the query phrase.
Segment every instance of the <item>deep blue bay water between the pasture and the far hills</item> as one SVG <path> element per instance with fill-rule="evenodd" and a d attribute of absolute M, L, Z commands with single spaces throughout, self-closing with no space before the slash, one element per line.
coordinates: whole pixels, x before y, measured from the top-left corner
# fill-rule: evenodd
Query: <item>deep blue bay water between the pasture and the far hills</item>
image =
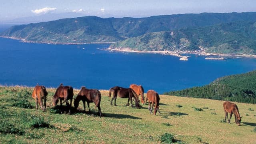
<path fill-rule="evenodd" d="M 189 61 L 161 54 L 109 52 L 109 44 L 35 44 L 0 38 L 0 84 L 106 89 L 141 84 L 162 94 L 256 69 L 256 59 Z"/>

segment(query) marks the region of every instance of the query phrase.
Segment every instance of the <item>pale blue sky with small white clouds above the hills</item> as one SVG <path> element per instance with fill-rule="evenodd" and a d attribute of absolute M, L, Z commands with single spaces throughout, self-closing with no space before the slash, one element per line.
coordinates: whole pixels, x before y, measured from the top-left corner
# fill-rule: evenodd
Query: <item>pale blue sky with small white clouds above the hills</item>
<path fill-rule="evenodd" d="M 0 21 L 49 13 L 148 17 L 202 12 L 255 12 L 256 0 L 0 0 Z"/>

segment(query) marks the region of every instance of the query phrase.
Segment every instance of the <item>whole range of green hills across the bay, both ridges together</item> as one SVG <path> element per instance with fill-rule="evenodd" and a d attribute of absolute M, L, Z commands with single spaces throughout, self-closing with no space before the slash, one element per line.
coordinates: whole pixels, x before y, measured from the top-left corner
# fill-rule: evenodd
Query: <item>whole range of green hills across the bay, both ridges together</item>
<path fill-rule="evenodd" d="M 138 50 L 196 50 L 204 46 L 212 52 L 254 53 L 255 21 L 256 12 L 147 18 L 85 16 L 12 26 L 0 36 L 38 43 L 118 42 L 112 47 Z"/>

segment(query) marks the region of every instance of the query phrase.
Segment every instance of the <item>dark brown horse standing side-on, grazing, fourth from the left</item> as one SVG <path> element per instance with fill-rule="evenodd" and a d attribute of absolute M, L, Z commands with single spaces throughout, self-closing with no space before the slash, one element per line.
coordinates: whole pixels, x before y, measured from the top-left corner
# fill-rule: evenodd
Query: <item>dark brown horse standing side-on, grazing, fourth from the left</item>
<path fill-rule="evenodd" d="M 138 96 L 137 94 L 134 92 L 134 90 L 132 90 L 131 88 L 122 88 L 122 87 L 119 87 L 119 86 L 115 86 L 113 88 L 110 88 L 109 90 L 109 97 L 111 97 L 111 93 L 113 91 L 113 97 L 112 97 L 112 100 L 111 100 L 111 105 L 112 105 L 112 102 L 114 100 L 114 105 L 116 105 L 116 98 L 117 96 L 119 96 L 120 98 L 128 98 L 128 102 L 126 104 L 126 106 L 129 106 L 129 101 L 131 100 L 131 106 L 133 107 L 133 104 L 132 104 L 132 98 L 134 98 L 135 100 L 135 106 L 136 108 L 140 108 L 140 101 L 138 99 Z"/>

